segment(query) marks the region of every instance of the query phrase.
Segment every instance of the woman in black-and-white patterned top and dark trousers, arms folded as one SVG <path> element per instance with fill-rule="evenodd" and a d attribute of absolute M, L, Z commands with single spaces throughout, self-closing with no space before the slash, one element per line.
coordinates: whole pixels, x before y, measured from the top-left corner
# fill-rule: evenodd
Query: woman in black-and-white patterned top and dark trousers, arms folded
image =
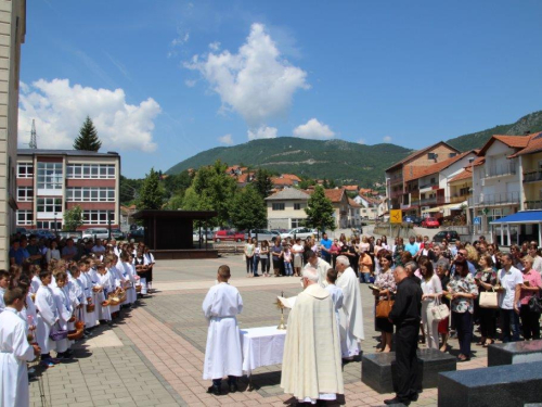
<path fill-rule="evenodd" d="M 474 301 L 478 296 L 478 288 L 473 275 L 468 272 L 465 258 L 455 260 L 455 274 L 448 283 L 448 291 L 452 295 L 452 317 L 455 320 L 461 349 L 457 360 L 470 360 Z"/>

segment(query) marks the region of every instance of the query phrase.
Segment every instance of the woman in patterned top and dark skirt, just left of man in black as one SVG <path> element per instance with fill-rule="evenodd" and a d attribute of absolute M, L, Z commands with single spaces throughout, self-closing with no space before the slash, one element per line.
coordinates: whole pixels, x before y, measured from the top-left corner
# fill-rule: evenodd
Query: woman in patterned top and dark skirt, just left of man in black
<path fill-rule="evenodd" d="M 375 295 L 375 305 L 378 301 L 384 301 L 389 296 L 392 298 L 391 294 L 395 294 L 397 290 L 396 280 L 393 278 L 393 270 L 391 265 L 393 259 L 391 255 L 385 254 L 380 257 L 380 274 L 376 278 L 374 284 L 377 290 L 373 290 Z M 393 325 L 388 318 L 375 318 L 376 329 L 382 332 L 380 347 L 376 352 L 390 352 L 391 351 L 391 336 L 393 335 Z"/>

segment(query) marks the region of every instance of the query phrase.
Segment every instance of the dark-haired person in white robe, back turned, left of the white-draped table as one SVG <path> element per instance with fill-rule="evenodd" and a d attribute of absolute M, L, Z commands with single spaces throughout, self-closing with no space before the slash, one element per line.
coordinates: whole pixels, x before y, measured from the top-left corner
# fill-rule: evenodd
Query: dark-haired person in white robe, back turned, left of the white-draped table
<path fill-rule="evenodd" d="M 231 393 L 237 391 L 237 378 L 243 376 L 243 353 L 236 316 L 243 310 L 243 300 L 230 285 L 230 267 L 218 268 L 218 284 L 210 288 L 203 303 L 209 322 L 205 348 L 204 380 L 212 380 L 209 393 L 220 395 L 222 378 L 228 377 Z"/>

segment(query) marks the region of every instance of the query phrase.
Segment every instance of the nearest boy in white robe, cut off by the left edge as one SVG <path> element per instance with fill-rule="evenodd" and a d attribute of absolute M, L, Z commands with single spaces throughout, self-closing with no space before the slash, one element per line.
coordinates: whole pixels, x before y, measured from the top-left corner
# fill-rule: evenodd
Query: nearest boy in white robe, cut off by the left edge
<path fill-rule="evenodd" d="M 41 352 L 38 345 L 30 345 L 26 336 L 26 323 L 17 315 L 24 307 L 25 293 L 16 287 L 4 297 L 5 309 L 0 314 L 0 405 L 28 406 L 28 369 Z"/>

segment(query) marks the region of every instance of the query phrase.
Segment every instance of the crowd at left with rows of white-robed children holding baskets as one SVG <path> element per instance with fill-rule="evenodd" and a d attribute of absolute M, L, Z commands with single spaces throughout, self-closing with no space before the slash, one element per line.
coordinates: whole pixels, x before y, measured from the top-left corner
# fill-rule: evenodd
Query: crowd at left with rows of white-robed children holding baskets
<path fill-rule="evenodd" d="M 1 404 L 28 405 L 27 364 L 53 368 L 75 341 L 122 317 L 152 291 L 153 254 L 143 243 L 13 237 L 0 270 Z M 54 354 L 52 354 L 54 352 Z M 17 380 L 13 380 L 17 378 Z"/>

